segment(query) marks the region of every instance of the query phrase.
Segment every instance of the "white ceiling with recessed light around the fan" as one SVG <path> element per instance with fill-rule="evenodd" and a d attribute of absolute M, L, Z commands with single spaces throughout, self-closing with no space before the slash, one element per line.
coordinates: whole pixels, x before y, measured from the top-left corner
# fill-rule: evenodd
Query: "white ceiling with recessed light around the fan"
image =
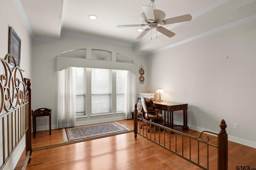
<path fill-rule="evenodd" d="M 154 53 L 181 43 L 256 20 L 256 0 L 155 0 L 156 9 L 166 18 L 191 14 L 192 20 L 162 25 L 174 37 L 149 31 L 142 40 L 139 27 L 116 25 L 141 24 L 142 6 L 149 0 L 14 0 L 32 35 L 38 39 L 58 40 L 70 35 L 133 46 L 137 53 Z M 90 14 L 96 20 L 90 20 Z M 25 22 L 26 23 L 26 22 Z M 146 29 L 147 27 L 142 27 Z M 152 40 L 150 40 L 152 37 Z"/>

